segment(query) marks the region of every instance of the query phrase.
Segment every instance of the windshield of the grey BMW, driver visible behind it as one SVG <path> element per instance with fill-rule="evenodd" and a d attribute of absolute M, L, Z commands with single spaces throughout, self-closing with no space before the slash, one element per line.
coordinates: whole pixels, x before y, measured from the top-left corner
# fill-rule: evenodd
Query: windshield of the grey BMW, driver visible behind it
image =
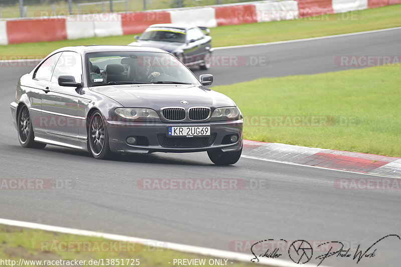
<path fill-rule="evenodd" d="M 177 58 L 161 52 L 95 52 L 87 54 L 89 86 L 129 83 L 200 85 Z"/>

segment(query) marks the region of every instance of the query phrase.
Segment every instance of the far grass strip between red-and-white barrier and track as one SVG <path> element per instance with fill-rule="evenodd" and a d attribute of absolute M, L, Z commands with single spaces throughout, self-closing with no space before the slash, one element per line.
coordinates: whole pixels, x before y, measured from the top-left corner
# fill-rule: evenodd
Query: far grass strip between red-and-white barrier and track
<path fill-rule="evenodd" d="M 282 41 L 401 26 L 401 4 L 361 11 L 306 17 L 295 20 L 220 26 L 211 29 L 215 47 Z M 128 44 L 134 35 L 77 40 L 0 45 L 0 59 L 13 56 L 44 57 L 69 45 Z"/>

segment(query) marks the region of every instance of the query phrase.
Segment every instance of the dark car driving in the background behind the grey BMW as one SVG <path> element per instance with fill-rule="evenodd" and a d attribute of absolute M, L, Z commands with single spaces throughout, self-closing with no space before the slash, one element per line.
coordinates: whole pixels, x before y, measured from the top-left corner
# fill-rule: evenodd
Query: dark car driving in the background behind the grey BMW
<path fill-rule="evenodd" d="M 206 33 L 205 33 L 206 32 Z M 188 67 L 199 66 L 208 69 L 212 60 L 212 37 L 209 28 L 186 24 L 154 24 L 149 26 L 134 46 L 156 47 L 175 55 Z"/>

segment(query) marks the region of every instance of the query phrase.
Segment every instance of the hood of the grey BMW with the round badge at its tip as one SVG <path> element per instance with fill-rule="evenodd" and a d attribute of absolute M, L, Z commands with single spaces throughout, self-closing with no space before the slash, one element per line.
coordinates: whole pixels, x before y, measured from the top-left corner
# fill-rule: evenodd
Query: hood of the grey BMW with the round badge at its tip
<path fill-rule="evenodd" d="M 191 84 L 120 84 L 91 87 L 125 107 L 148 107 L 160 110 L 168 106 L 233 106 L 228 96 L 203 86 Z M 188 104 L 181 104 L 185 100 Z"/>

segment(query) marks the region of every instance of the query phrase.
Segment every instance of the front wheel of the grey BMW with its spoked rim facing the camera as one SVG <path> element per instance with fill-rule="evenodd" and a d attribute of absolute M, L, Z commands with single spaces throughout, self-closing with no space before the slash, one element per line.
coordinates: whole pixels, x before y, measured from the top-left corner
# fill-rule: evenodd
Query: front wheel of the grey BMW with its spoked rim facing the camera
<path fill-rule="evenodd" d="M 109 134 L 102 114 L 92 113 L 88 128 L 88 148 L 94 158 L 107 159 L 111 155 Z"/>

